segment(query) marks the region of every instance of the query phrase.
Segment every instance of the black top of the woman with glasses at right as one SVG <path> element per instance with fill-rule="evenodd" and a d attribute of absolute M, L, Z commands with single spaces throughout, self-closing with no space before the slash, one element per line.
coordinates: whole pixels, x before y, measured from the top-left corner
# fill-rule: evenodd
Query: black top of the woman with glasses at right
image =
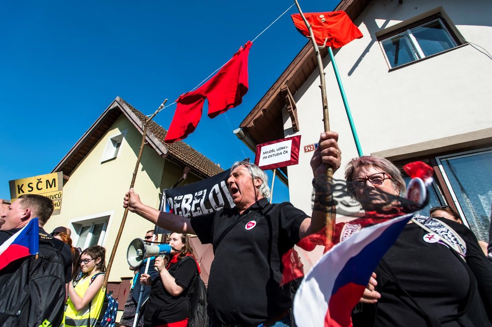
<path fill-rule="evenodd" d="M 375 270 L 378 282 L 376 290 L 381 293 L 381 298 L 376 305 L 363 305 L 366 313 L 372 311 L 375 314 L 375 326 L 428 325 L 415 305 L 405 303 L 412 303 L 412 300 L 401 288 L 411 295 L 428 316 L 440 320 L 442 326 L 490 325 L 484 310 L 490 310 L 490 305 L 484 308 L 482 300 L 488 302 L 492 296 L 492 265 L 466 226 L 443 221 L 464 239 L 467 263 L 443 243 L 426 242 L 424 235 L 427 231 L 417 224 L 406 225 L 383 257 L 382 261 L 387 266 L 380 263 Z M 466 265 L 476 276 L 478 290 L 482 288 L 484 293 L 489 294 L 482 300 L 477 292 L 475 277 L 470 276 Z M 391 274 L 396 276 L 401 288 L 395 285 Z M 470 287 L 474 295 L 468 298 Z M 458 321 L 453 315 L 458 316 L 468 302 L 471 302 L 468 313 Z M 354 325 L 369 325 L 367 320 L 362 319 L 360 322 Z"/>

